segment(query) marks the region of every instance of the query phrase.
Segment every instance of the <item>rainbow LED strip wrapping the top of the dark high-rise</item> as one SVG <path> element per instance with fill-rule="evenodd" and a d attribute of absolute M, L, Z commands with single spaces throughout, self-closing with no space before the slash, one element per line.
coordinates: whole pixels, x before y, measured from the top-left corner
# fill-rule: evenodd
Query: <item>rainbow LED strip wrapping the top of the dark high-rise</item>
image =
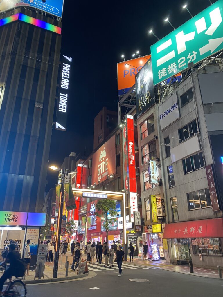
<path fill-rule="evenodd" d="M 43 28 L 45 30 L 48 30 L 57 34 L 61 34 L 60 27 L 46 23 L 43 20 L 37 20 L 35 18 L 29 17 L 28 15 L 23 15 L 22 13 L 17 13 L 15 15 L 11 15 L 10 17 L 1 19 L 0 26 L 4 26 L 6 24 L 12 23 L 15 20 L 21 20 L 22 22 L 29 23 L 31 25 Z"/>

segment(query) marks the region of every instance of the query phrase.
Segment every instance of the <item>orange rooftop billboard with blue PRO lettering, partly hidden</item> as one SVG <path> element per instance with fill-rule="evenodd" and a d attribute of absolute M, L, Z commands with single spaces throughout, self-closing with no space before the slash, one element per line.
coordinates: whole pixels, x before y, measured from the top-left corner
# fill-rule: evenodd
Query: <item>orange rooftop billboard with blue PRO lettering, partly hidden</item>
<path fill-rule="evenodd" d="M 151 55 L 120 62 L 118 66 L 118 96 L 125 95 L 135 84 L 135 75 Z"/>

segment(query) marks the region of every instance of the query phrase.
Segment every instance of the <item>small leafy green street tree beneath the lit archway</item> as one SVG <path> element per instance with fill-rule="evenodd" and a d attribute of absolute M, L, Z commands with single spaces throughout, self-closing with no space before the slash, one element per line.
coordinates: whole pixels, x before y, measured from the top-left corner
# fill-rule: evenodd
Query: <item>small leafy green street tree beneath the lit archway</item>
<path fill-rule="evenodd" d="M 116 202 L 114 200 L 102 199 L 98 201 L 95 207 L 99 211 L 99 212 L 95 212 L 96 217 L 104 217 L 103 225 L 108 237 L 109 226 L 113 222 L 112 217 L 117 215 L 117 211 L 115 211 Z M 109 216 L 108 216 L 108 211 L 109 211 Z"/>

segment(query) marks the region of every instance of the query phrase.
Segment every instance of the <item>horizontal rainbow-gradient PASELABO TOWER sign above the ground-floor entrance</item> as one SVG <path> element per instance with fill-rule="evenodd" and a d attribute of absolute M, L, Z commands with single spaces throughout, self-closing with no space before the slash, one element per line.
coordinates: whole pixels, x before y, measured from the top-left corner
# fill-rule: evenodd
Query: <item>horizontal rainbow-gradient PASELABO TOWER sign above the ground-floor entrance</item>
<path fill-rule="evenodd" d="M 45 226 L 46 214 L 33 212 L 0 211 L 1 226 Z"/>

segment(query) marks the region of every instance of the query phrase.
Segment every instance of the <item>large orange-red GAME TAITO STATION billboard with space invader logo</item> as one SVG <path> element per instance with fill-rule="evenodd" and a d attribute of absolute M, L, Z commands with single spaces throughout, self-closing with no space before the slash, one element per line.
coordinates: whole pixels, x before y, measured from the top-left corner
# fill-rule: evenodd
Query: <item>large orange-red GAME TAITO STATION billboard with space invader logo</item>
<path fill-rule="evenodd" d="M 107 175 L 116 173 L 115 135 L 112 136 L 92 157 L 92 184 L 107 179 Z"/>

